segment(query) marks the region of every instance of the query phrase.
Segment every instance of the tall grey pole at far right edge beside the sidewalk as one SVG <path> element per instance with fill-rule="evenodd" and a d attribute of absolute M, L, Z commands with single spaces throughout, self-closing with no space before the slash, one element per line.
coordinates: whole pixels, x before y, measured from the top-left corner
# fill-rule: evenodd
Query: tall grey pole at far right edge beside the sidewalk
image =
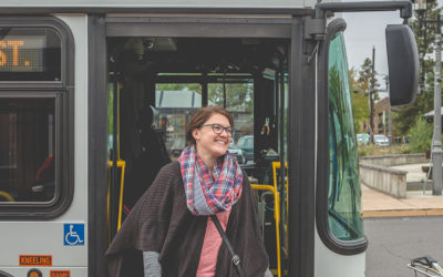
<path fill-rule="evenodd" d="M 442 195 L 442 22 L 436 16 L 435 30 L 435 86 L 434 86 L 434 137 L 432 147 L 432 194 Z"/>

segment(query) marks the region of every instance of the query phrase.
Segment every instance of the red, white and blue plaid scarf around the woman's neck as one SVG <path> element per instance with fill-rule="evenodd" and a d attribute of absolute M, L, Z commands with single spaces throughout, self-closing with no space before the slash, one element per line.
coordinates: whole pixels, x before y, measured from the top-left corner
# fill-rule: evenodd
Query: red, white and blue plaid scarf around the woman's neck
<path fill-rule="evenodd" d="M 194 146 L 187 146 L 178 162 L 187 208 L 194 215 L 214 215 L 229 211 L 240 198 L 243 172 L 229 151 L 217 160 L 213 168 L 214 179 Z"/>

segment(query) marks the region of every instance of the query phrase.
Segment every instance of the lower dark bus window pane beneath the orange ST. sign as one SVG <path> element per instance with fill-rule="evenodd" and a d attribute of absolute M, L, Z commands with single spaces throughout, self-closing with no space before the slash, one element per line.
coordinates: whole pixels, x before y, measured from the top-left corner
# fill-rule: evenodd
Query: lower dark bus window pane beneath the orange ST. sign
<path fill-rule="evenodd" d="M 1 99 L 0 202 L 54 199 L 54 99 Z"/>

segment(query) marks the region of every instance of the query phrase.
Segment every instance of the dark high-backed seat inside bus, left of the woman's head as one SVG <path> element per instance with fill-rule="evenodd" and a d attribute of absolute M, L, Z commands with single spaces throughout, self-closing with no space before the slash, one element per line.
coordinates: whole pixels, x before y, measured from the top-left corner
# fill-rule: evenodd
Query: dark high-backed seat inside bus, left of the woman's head
<path fill-rule="evenodd" d="M 144 104 L 138 111 L 137 125 L 143 150 L 127 174 L 124 203 L 128 208 L 132 208 L 140 196 L 151 186 L 158 171 L 171 162 L 163 135 L 153 126 L 154 111 L 154 107 L 148 104 Z"/>

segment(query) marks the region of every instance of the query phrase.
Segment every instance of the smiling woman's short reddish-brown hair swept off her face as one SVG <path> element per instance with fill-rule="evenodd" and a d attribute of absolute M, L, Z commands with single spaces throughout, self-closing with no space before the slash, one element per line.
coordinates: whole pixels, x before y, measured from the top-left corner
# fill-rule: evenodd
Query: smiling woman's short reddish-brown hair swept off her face
<path fill-rule="evenodd" d="M 190 122 L 189 122 L 189 125 L 186 131 L 186 141 L 189 144 L 195 145 L 195 138 L 193 136 L 193 131 L 195 129 L 202 127 L 202 125 L 205 124 L 205 122 L 207 120 L 209 120 L 209 117 L 213 114 L 217 114 L 217 113 L 225 115 L 226 119 L 228 119 L 228 121 L 229 121 L 230 127 L 234 129 L 234 117 L 228 111 L 226 111 L 225 107 L 219 106 L 219 105 L 203 106 L 203 107 L 196 110 L 190 116 Z"/>

